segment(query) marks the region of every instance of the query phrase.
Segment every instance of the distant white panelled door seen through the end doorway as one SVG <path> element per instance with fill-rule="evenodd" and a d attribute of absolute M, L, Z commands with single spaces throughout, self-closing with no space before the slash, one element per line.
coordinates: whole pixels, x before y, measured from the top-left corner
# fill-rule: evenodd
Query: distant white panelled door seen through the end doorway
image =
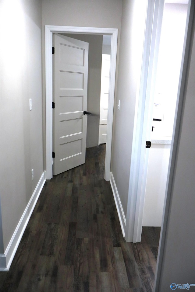
<path fill-rule="evenodd" d="M 102 54 L 99 144 L 106 143 L 109 77 L 110 77 L 110 55 Z"/>

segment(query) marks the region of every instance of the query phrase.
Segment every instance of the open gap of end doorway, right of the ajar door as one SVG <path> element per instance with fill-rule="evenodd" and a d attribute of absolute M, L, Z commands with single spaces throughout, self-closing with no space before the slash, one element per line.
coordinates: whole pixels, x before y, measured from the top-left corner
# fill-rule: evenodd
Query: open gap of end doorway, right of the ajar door
<path fill-rule="evenodd" d="M 60 35 L 89 44 L 86 148 L 106 144 L 111 35 Z"/>

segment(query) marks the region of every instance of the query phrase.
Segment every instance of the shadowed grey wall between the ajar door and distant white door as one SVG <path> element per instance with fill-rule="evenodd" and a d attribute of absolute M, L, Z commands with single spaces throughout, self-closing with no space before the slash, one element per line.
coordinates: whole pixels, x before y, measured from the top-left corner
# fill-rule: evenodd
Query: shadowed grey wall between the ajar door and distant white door
<path fill-rule="evenodd" d="M 89 43 L 88 85 L 87 85 L 87 141 L 86 147 L 98 146 L 101 89 L 101 56 L 103 36 L 66 34 Z"/>

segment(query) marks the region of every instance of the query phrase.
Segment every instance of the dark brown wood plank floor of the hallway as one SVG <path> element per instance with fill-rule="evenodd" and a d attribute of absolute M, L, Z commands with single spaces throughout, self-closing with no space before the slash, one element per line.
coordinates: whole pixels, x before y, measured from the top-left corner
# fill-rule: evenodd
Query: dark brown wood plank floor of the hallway
<path fill-rule="evenodd" d="M 127 243 L 110 183 L 105 145 L 86 163 L 46 181 L 0 291 L 151 292 L 160 228 Z"/>

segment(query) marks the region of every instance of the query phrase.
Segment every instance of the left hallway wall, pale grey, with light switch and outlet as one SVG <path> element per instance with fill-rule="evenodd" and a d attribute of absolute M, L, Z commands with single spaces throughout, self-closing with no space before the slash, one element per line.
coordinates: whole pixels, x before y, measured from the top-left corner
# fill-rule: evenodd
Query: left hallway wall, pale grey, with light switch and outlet
<path fill-rule="evenodd" d="M 41 2 L 1 1 L 1 13 L 0 252 L 5 252 L 44 171 Z"/>

